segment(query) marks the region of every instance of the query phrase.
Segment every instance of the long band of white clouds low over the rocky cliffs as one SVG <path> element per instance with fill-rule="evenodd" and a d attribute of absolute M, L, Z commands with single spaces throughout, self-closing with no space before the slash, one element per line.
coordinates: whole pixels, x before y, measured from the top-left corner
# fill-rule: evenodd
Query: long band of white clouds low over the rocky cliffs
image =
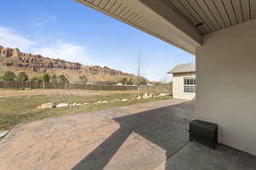
<path fill-rule="evenodd" d="M 83 46 L 60 41 L 51 41 L 50 44 L 45 44 L 44 42 L 29 40 L 15 32 L 12 29 L 0 26 L 0 45 L 9 48 L 20 48 L 20 51 L 26 53 L 41 54 L 45 57 L 65 59 L 84 65 L 102 65 L 100 62 L 91 59 L 87 48 Z"/>

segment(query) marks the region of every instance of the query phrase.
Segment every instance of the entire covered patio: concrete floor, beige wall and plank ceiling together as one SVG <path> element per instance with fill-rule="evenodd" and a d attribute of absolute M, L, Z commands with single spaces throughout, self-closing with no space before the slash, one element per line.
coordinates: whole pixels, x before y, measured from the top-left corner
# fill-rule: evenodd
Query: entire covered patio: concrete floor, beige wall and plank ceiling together
<path fill-rule="evenodd" d="M 195 54 L 196 101 L 20 123 L 0 141 L 1 170 L 256 169 L 256 1 L 77 1 Z M 216 150 L 189 141 L 194 119 L 218 124 Z"/>

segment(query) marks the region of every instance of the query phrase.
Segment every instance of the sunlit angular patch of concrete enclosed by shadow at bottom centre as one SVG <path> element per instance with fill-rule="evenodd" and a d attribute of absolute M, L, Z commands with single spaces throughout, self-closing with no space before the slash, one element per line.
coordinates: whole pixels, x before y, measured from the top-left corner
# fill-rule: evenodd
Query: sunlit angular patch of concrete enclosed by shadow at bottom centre
<path fill-rule="evenodd" d="M 104 170 L 148 170 L 157 167 L 163 161 L 166 161 L 166 150 L 137 133 L 131 133 Z"/>

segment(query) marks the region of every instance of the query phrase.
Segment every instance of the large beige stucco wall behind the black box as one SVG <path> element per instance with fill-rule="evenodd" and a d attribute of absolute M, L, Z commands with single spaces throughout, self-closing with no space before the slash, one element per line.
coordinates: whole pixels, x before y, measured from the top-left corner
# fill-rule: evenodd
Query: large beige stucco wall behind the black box
<path fill-rule="evenodd" d="M 256 155 L 256 20 L 205 37 L 196 49 L 196 111 L 219 142 Z"/>

